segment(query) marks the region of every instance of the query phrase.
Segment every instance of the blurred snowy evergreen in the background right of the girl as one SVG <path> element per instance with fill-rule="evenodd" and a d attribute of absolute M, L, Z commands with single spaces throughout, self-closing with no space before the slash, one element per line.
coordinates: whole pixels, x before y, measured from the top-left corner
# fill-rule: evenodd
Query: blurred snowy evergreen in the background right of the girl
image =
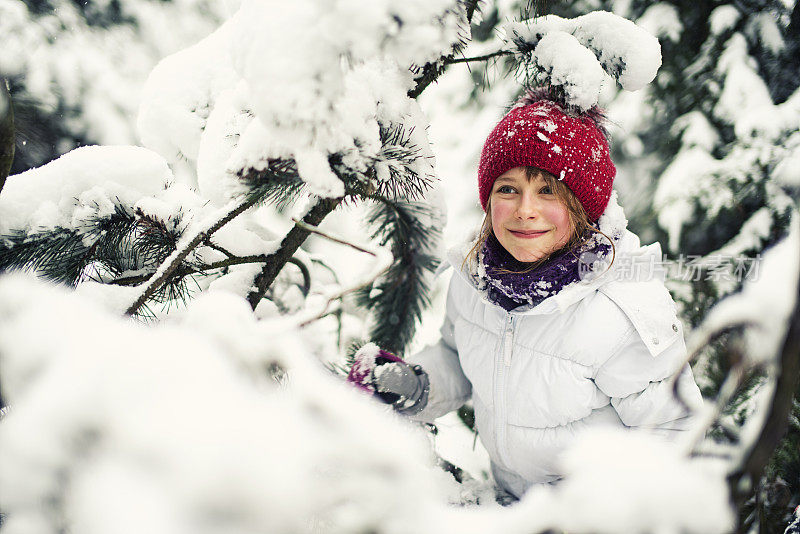
<path fill-rule="evenodd" d="M 662 162 L 652 170 L 652 213 L 671 256 L 688 260 L 671 280 L 696 326 L 748 274 L 757 277 L 758 258 L 785 235 L 796 208 L 799 10 L 776 1 L 633 2 L 631 10 L 634 19 L 662 24 L 664 64 L 647 89 L 653 112 L 636 135 Z M 732 336 L 711 344 L 695 366 L 706 393 L 735 362 Z M 734 427 L 752 411 L 759 384 L 752 377 L 728 407 Z M 716 435 L 724 439 L 719 428 Z M 800 464 L 787 451 L 798 448 L 791 430 L 742 510 L 743 528 L 780 532 L 788 524 L 800 504 Z"/>

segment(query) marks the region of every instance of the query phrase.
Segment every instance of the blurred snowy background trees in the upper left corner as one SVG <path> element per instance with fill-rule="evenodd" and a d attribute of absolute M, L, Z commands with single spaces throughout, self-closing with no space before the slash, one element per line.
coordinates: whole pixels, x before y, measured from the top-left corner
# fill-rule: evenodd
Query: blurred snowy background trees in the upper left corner
<path fill-rule="evenodd" d="M 13 172 L 76 146 L 135 143 L 130 117 L 147 73 L 234 7 L 207 0 L 0 2 L 0 78 L 17 110 Z"/>

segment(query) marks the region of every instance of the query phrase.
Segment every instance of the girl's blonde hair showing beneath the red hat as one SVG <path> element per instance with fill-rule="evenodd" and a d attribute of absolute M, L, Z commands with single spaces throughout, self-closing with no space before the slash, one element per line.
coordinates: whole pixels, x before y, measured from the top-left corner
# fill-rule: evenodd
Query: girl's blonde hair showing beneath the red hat
<path fill-rule="evenodd" d="M 581 205 L 578 197 L 575 196 L 567 185 L 550 174 L 547 171 L 543 171 L 537 167 L 525 167 L 525 177 L 528 180 L 532 180 L 536 176 L 541 176 L 544 180 L 545 184 L 550 187 L 550 190 L 553 191 L 553 194 L 556 196 L 559 202 L 561 202 L 567 208 L 567 214 L 569 216 L 569 223 L 570 223 L 570 237 L 569 240 L 560 248 L 556 250 L 550 251 L 549 254 L 536 260 L 535 262 L 531 262 L 527 264 L 527 267 L 519 272 L 528 272 L 536 269 L 547 259 L 552 256 L 554 253 L 560 250 L 570 250 L 573 254 L 576 254 L 580 248 L 585 245 L 590 239 L 594 237 L 593 234 L 600 234 L 605 237 L 608 242 L 611 244 L 611 264 L 614 263 L 614 258 L 616 257 L 617 251 L 616 247 L 614 246 L 614 241 L 600 231 L 596 225 L 592 224 L 589 220 L 589 216 L 586 214 L 586 210 Z M 478 232 L 478 237 L 475 240 L 475 244 L 472 245 L 472 248 L 467 253 L 467 256 L 464 258 L 464 261 L 461 263 L 461 268 L 464 268 L 464 264 L 469 261 L 470 265 L 475 266 L 478 264 L 478 253 L 483 248 L 486 240 L 489 239 L 489 236 L 493 234 L 494 230 L 492 229 L 492 195 L 489 194 L 489 200 L 486 202 L 486 215 L 483 217 L 483 223 L 481 224 L 481 229 Z M 608 268 L 611 268 L 611 264 L 609 264 Z M 607 271 L 608 269 L 606 269 Z"/>

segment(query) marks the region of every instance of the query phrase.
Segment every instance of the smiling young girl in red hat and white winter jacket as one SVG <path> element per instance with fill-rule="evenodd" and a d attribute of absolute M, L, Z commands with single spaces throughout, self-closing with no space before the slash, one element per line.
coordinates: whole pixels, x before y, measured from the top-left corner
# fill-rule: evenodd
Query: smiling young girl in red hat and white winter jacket
<path fill-rule="evenodd" d="M 600 120 L 546 91 L 511 109 L 481 153 L 478 240 L 449 257 L 441 340 L 408 363 L 362 350 L 349 377 L 422 421 L 472 399 L 495 480 L 516 497 L 560 478 L 581 431 L 669 436 L 702 402 L 661 249 L 640 246 L 612 199 Z"/>

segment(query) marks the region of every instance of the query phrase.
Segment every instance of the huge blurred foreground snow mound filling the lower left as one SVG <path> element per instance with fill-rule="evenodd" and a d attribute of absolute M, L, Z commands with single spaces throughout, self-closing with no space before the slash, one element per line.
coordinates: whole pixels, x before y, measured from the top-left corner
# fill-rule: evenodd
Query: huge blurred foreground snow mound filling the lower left
<path fill-rule="evenodd" d="M 10 532 L 422 532 L 455 484 L 422 433 L 231 295 L 145 327 L 5 276 L 0 366 Z"/>

